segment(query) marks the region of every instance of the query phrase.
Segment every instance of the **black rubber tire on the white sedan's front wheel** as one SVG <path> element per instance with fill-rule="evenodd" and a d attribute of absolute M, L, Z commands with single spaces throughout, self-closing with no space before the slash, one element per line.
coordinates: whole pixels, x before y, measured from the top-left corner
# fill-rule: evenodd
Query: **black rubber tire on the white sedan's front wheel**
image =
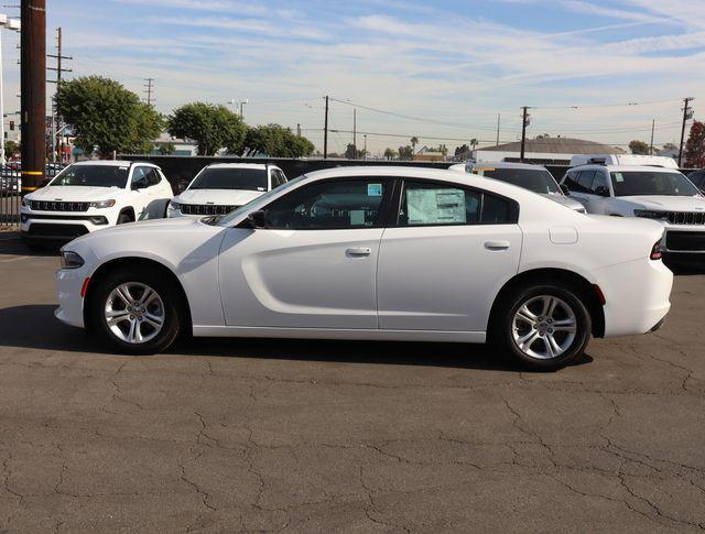
<path fill-rule="evenodd" d="M 116 287 L 126 283 L 149 286 L 159 295 L 163 304 L 161 330 L 152 339 L 144 342 L 128 342 L 120 339 L 108 326 L 106 319 L 105 310 L 108 305 L 108 297 Z M 139 295 L 135 296 L 138 299 L 139 297 Z M 127 268 L 110 272 L 96 281 L 87 303 L 88 320 L 90 322 L 90 330 L 99 338 L 107 340 L 119 351 L 130 355 L 153 355 L 169 349 L 178 337 L 182 327 L 186 324 L 184 305 L 185 303 L 178 288 L 160 270 Z M 127 328 L 123 328 L 124 326 Z M 129 324 L 122 324 L 119 328 L 128 329 Z M 139 328 L 142 328 L 142 326 Z M 147 330 L 147 335 L 149 335 L 149 328 Z"/>

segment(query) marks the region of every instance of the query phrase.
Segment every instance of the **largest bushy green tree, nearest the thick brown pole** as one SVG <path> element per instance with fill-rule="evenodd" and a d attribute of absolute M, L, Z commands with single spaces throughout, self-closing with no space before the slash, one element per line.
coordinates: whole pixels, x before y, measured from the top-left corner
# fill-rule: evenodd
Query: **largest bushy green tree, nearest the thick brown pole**
<path fill-rule="evenodd" d="M 73 127 L 74 144 L 101 157 L 112 152 L 143 152 L 164 126 L 156 110 L 113 79 L 85 76 L 56 90 L 56 110 Z"/>

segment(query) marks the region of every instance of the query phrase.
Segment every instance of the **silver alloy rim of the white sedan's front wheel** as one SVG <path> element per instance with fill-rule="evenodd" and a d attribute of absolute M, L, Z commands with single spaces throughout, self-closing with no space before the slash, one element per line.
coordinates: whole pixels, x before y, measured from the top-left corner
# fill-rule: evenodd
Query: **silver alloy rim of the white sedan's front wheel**
<path fill-rule="evenodd" d="M 152 287 L 126 282 L 115 287 L 105 305 L 105 320 L 121 341 L 140 345 L 154 339 L 164 326 L 164 303 Z"/>

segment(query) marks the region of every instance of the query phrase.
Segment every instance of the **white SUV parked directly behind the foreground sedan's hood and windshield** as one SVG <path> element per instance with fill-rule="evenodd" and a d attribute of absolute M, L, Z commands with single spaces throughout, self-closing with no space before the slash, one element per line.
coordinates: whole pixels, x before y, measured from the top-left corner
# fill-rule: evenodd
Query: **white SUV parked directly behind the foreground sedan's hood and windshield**
<path fill-rule="evenodd" d="M 229 214 L 286 183 L 284 172 L 260 163 L 214 163 L 200 170 L 169 205 L 169 217 Z"/>

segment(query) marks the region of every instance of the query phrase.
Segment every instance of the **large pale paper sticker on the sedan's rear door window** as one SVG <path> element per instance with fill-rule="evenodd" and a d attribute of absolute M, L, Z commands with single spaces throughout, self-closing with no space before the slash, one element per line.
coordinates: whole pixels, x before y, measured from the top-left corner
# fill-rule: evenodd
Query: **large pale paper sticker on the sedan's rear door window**
<path fill-rule="evenodd" d="M 467 222 L 463 189 L 409 189 L 406 209 L 410 225 Z"/>

